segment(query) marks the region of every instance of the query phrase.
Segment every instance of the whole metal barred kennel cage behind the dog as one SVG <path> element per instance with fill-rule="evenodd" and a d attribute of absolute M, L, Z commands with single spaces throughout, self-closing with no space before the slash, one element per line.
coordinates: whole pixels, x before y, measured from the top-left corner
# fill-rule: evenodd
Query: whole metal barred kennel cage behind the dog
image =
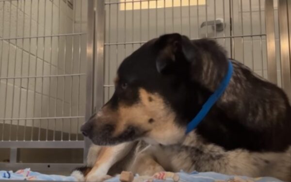
<path fill-rule="evenodd" d="M 290 12 L 288 0 L 0 0 L 0 168 L 85 163 L 81 123 L 112 96 L 122 60 L 164 33 L 216 39 L 291 97 Z M 83 152 L 78 164 L 27 164 L 22 148 Z"/>

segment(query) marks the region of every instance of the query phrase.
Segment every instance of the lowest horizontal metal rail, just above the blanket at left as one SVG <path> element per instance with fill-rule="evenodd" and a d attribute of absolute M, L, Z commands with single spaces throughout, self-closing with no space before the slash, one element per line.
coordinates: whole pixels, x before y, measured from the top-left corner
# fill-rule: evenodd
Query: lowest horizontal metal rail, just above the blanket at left
<path fill-rule="evenodd" d="M 84 164 L 41 164 L 41 163 L 0 163 L 0 169 L 6 170 L 19 170 L 25 168 L 31 168 L 32 171 L 67 171 L 71 172 L 76 167 L 84 166 Z M 9 180 L 11 181 L 11 180 Z M 15 181 L 15 180 L 14 180 Z M 23 181 L 22 181 L 23 182 Z M 37 181 L 34 181 L 37 182 Z M 44 181 L 42 181 L 44 182 Z"/>

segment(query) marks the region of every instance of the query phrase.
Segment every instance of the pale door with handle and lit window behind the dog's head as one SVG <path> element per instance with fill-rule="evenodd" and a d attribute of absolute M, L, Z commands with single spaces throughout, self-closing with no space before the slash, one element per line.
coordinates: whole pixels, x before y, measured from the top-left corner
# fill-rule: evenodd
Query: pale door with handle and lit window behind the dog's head
<path fill-rule="evenodd" d="M 235 55 L 229 0 L 104 0 L 104 3 L 102 103 L 113 95 L 116 69 L 123 59 L 164 33 L 181 33 L 193 40 L 214 38 L 230 57 Z"/>

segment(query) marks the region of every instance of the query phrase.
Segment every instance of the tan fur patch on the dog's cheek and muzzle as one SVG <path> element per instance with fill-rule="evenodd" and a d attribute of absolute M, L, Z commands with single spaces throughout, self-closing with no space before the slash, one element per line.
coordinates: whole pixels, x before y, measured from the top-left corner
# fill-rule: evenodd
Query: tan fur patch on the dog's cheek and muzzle
<path fill-rule="evenodd" d="M 148 136 L 156 142 L 166 144 L 181 139 L 184 129 L 175 123 L 175 113 L 165 104 L 159 94 L 148 93 L 145 89 L 139 90 L 140 101 L 134 105 L 120 105 L 116 116 L 113 136 L 118 136 L 129 126 L 137 126 L 148 132 Z M 149 101 L 149 97 L 152 101 Z M 155 120 L 149 123 L 148 120 Z M 161 132 L 164 131 L 164 132 Z"/>

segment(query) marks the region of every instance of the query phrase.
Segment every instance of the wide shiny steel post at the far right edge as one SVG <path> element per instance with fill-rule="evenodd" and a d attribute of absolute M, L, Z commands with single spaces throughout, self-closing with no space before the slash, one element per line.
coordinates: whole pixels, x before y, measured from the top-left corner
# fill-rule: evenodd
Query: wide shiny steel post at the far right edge
<path fill-rule="evenodd" d="M 288 13 L 287 0 L 278 0 L 279 38 L 281 55 L 282 87 L 291 99 L 291 74 L 289 55 Z"/>

